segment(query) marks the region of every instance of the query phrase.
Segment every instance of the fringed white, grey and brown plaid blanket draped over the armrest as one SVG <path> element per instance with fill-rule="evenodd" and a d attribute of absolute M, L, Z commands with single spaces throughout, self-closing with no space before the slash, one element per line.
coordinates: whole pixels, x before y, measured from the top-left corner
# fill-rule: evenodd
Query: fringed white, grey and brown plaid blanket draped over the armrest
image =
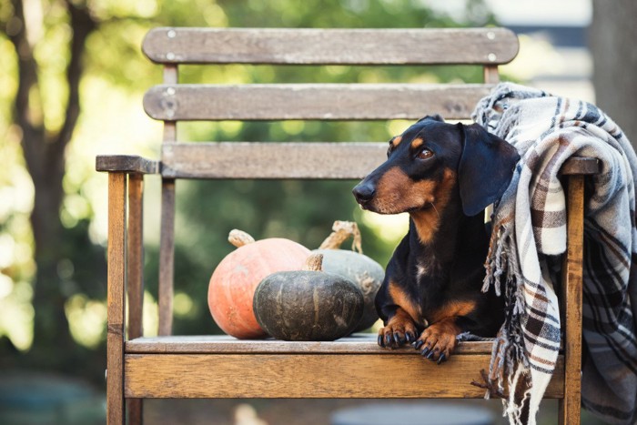
<path fill-rule="evenodd" d="M 560 348 L 555 286 L 566 248 L 566 211 L 558 179 L 571 156 L 596 157 L 587 181 L 583 264 L 582 405 L 603 420 L 637 421 L 637 157 L 622 130 L 591 104 L 503 83 L 480 100 L 474 120 L 517 147 L 511 186 L 496 206 L 484 290 L 504 294 L 506 320 L 494 343 L 490 384 L 511 391 L 511 423 L 521 405 L 535 423 Z M 590 190 L 589 190 L 590 189 Z M 522 380 L 521 380 L 522 379 Z M 514 392 L 518 392 L 514 394 Z"/>

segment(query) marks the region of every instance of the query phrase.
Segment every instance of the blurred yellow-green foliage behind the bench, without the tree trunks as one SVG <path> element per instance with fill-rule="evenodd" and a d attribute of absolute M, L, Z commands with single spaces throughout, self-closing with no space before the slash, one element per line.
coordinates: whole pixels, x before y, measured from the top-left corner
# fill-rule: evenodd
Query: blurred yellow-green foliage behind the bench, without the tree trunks
<path fill-rule="evenodd" d="M 27 2 L 32 5 L 33 2 Z M 81 0 L 73 2 L 83 4 Z M 489 25 L 492 17 L 481 0 L 467 0 L 458 16 L 442 15 L 424 0 L 90 0 L 86 7 L 98 21 L 86 41 L 85 75 L 81 85 L 83 115 L 67 151 L 66 199 L 59 212 L 66 228 L 60 241 L 64 262 L 58 267 L 56 284 L 66 288 L 67 316 L 73 309 L 89 311 L 89 301 L 104 302 L 106 272 L 104 247 L 106 228 L 106 177 L 96 175 L 96 153 L 135 153 L 157 157 L 160 127 L 141 116 L 141 96 L 161 81 L 161 67 L 151 64 L 139 46 L 151 27 L 169 26 L 253 26 L 253 27 L 446 27 Z M 41 111 L 47 130 L 61 126 L 63 107 L 59 98 L 66 90 L 65 68 L 68 42 L 73 36 L 68 15 L 61 0 L 43 0 L 38 15 L 41 35 L 35 56 L 42 76 Z M 11 29 L 12 10 L 0 5 L 0 23 Z M 15 23 L 14 23 L 15 24 Z M 34 25 L 34 24 L 32 24 Z M 427 46 L 423 46 L 427 48 Z M 17 71 L 15 51 L 0 34 L 3 69 L 0 82 L 7 87 L 0 93 L 0 137 L 4 139 L 0 159 L 0 182 L 25 187 L 25 179 L 15 182 L 15 167 L 22 169 L 19 137 L 12 126 L 9 105 L 15 96 Z M 419 66 L 182 66 L 181 82 L 207 83 L 372 83 L 372 82 L 479 82 L 478 67 L 429 68 Z M 135 111 L 135 112 L 130 112 Z M 425 116 L 436 111 L 422 111 Z M 181 140 L 235 141 L 384 141 L 400 131 L 401 122 L 255 122 L 188 123 L 178 127 Z M 112 141 L 109 141 L 112 140 Z M 250 158 L 247 157 L 246 161 Z M 11 167 L 9 167 L 9 163 Z M 20 171 L 18 171 L 19 174 Z M 13 173 L 9 175 L 9 173 Z M 227 232 L 241 228 L 255 238 L 291 238 L 308 248 L 318 248 L 336 219 L 356 220 L 361 224 L 366 254 L 384 265 L 393 246 L 383 238 L 383 228 L 368 226 L 356 206 L 350 189 L 352 181 L 179 181 L 177 183 L 176 226 L 176 320 L 175 333 L 211 333 L 218 329 L 207 310 L 207 281 L 218 261 L 232 249 Z M 147 191 L 147 290 L 157 296 L 157 181 L 150 179 Z M 155 190 L 155 193 L 152 193 Z M 1 211 L 0 211 L 1 212 Z M 51 212 L 56 214 L 55 211 Z M 10 235 L 16 243 L 33 243 L 28 234 L 16 232 L 11 222 L 27 222 L 28 210 L 15 208 L 0 215 L 0 238 Z M 3 221 L 4 220 L 4 221 Z M 147 223 L 148 224 L 148 223 Z M 23 226 L 24 228 L 24 226 Z M 389 232 L 391 233 L 391 232 Z M 1 248 L 1 247 L 0 247 Z M 33 277 L 33 264 L 15 259 L 0 271 L 18 282 Z M 25 270 L 27 270 L 25 272 Z M 52 282 L 47 282 L 52 284 Z M 53 283 L 55 284 L 55 283 Z M 14 294 L 15 295 L 15 294 Z M 25 297 L 2 302 L 20 303 Z M 27 297 L 28 298 L 28 297 Z M 7 301 L 9 299 L 10 301 Z M 148 298 L 152 304 L 152 298 Z M 79 306 L 79 307 L 77 307 Z M 38 309 L 38 306 L 35 306 Z M 93 308 L 91 308 L 93 309 Z M 95 310 L 95 309 L 93 309 Z M 97 317 L 100 317 L 97 311 Z M 0 315 L 1 316 L 1 315 Z M 28 320 L 28 314 L 25 319 Z M 73 316 L 81 320 L 83 316 Z M 104 318 L 102 318 L 104 319 Z M 71 327 L 74 323 L 71 320 Z M 54 324 L 55 325 L 55 324 Z M 11 333 L 0 317 L 0 336 Z M 27 324 L 28 326 L 28 324 Z M 81 328 L 78 328 L 81 329 Z M 153 329 L 147 329 L 149 333 Z M 88 345 L 103 359 L 106 333 L 97 332 L 98 343 Z M 76 339 L 83 340 L 78 338 Z M 87 339 L 86 339 L 87 340 Z M 84 342 L 83 342 L 84 343 Z M 15 344 L 25 349 L 24 344 Z M 87 345 L 84 343 L 84 345 Z M 88 359 L 82 349 L 80 358 Z M 4 356 L 0 347 L 0 356 Z M 69 353 L 69 356 L 73 356 Z M 103 361 L 90 366 L 101 375 Z"/>

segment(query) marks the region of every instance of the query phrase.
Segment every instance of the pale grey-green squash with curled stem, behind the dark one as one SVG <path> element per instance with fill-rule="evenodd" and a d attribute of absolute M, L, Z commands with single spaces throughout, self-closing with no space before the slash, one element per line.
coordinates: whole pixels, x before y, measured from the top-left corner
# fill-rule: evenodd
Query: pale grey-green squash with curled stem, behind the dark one
<path fill-rule="evenodd" d="M 359 332 L 368 329 L 379 319 L 374 300 L 385 278 L 385 269 L 373 259 L 363 255 L 360 231 L 356 223 L 335 221 L 332 230 L 319 249 L 312 252 L 323 255 L 324 271 L 349 278 L 362 292 L 365 301 L 363 317 L 354 329 L 354 332 Z M 354 239 L 352 250 L 340 249 L 341 244 L 350 237 Z"/>

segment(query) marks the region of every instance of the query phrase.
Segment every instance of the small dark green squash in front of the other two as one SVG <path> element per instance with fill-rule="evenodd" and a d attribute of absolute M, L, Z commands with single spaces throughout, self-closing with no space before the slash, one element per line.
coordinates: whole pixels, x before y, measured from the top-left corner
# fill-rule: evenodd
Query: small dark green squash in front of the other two
<path fill-rule="evenodd" d="M 296 271 L 264 278 L 253 309 L 261 329 L 276 339 L 334 340 L 349 335 L 363 314 L 363 296 L 347 278 L 321 271 L 323 256 L 312 254 Z"/>

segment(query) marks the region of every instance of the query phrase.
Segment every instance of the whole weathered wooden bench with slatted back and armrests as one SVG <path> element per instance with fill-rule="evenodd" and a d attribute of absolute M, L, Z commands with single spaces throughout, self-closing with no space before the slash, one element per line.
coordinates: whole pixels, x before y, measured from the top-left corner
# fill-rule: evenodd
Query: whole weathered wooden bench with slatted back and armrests
<path fill-rule="evenodd" d="M 460 343 L 458 354 L 437 366 L 413 349 L 379 349 L 373 335 L 334 342 L 171 336 L 176 179 L 359 179 L 386 151 L 384 142 L 177 142 L 176 125 L 182 120 L 418 119 L 428 113 L 467 119 L 498 82 L 498 66 L 516 56 L 516 35 L 502 28 L 157 28 L 143 49 L 164 66 L 164 84 L 150 88 L 144 101 L 148 115 L 165 123 L 161 160 L 96 158 L 97 170 L 108 172 L 108 423 L 124 423 L 126 410 L 129 423 L 141 422 L 147 398 L 482 398 L 484 390 L 470 382 L 489 367 L 488 342 Z M 230 63 L 469 64 L 483 66 L 484 84 L 178 84 L 178 65 Z M 251 159 L 248 166 L 235 160 L 245 156 Z M 570 180 L 562 294 L 566 340 L 546 397 L 561 400 L 560 421 L 568 424 L 580 418 L 583 175 L 596 169 L 594 160 L 585 159 L 562 168 Z M 147 174 L 162 177 L 157 338 L 142 332 Z M 379 370 L 409 379 L 387 379 Z"/>

